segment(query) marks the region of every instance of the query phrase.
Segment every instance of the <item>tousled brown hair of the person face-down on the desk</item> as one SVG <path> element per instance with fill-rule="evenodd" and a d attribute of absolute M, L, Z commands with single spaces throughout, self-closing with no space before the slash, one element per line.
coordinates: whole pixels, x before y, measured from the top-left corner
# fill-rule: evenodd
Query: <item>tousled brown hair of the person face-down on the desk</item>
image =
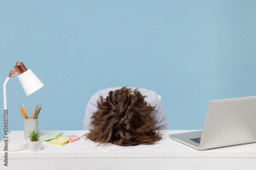
<path fill-rule="evenodd" d="M 137 89 L 120 88 L 110 91 L 108 97 L 97 101 L 98 110 L 91 116 L 92 129 L 87 138 L 99 144 L 112 143 L 121 146 L 154 144 L 161 139 L 155 132 L 152 112 Z"/>

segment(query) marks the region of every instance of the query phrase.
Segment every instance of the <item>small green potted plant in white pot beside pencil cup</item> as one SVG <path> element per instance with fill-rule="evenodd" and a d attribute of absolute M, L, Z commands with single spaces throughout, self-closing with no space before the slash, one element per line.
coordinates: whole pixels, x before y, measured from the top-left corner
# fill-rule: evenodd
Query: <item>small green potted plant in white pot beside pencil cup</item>
<path fill-rule="evenodd" d="M 36 130 L 33 130 L 30 133 L 29 141 L 27 142 L 27 148 L 28 150 L 32 151 L 38 151 L 42 148 L 42 141 L 39 139 L 39 132 Z"/>

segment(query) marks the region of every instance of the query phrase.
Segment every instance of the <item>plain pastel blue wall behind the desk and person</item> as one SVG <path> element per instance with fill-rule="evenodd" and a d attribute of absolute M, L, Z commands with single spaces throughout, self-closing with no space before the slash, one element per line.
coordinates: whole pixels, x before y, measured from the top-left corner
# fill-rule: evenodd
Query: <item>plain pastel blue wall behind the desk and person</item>
<path fill-rule="evenodd" d="M 10 80 L 9 131 L 23 129 L 20 105 L 32 114 L 41 103 L 39 129 L 82 129 L 90 96 L 116 86 L 160 94 L 169 129 L 200 129 L 209 100 L 256 94 L 255 9 L 253 0 L 1 0 L 1 83 L 23 61 L 45 84 L 26 97 Z"/>

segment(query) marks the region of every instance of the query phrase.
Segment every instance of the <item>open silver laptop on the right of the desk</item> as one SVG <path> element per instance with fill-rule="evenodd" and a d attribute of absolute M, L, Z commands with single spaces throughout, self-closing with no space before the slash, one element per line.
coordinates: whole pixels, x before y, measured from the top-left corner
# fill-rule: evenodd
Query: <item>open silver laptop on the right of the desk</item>
<path fill-rule="evenodd" d="M 256 96 L 210 101 L 202 131 L 176 133 L 171 139 L 195 150 L 256 142 Z"/>

